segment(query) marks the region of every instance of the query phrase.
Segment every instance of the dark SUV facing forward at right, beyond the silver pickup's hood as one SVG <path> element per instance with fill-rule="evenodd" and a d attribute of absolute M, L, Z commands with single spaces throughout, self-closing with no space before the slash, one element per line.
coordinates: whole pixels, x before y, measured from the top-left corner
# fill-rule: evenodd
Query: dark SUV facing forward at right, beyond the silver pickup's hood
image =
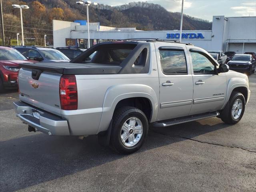
<path fill-rule="evenodd" d="M 255 72 L 255 59 L 249 54 L 235 54 L 228 66 L 230 70 L 250 75 Z"/>

